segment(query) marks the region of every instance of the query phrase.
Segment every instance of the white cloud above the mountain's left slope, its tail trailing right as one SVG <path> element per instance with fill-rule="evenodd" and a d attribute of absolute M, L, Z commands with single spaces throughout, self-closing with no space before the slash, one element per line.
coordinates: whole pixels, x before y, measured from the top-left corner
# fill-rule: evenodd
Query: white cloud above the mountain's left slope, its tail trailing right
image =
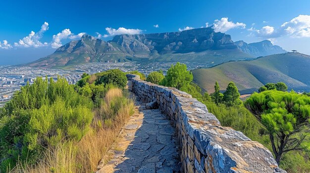
<path fill-rule="evenodd" d="M 79 33 L 78 35 L 74 35 L 71 33 L 70 29 L 64 29 L 61 33 L 57 35 L 53 35 L 51 46 L 52 48 L 58 48 L 62 46 L 61 40 L 63 39 L 80 39 L 86 33 Z"/>

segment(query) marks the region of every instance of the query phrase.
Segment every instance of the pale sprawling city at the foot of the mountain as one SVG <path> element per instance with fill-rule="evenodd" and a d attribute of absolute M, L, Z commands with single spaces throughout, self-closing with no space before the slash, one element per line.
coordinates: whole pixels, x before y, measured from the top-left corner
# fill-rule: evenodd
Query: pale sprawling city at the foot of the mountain
<path fill-rule="evenodd" d="M 0 66 L 0 107 L 9 101 L 14 92 L 27 83 L 32 84 L 36 77 L 48 77 L 57 80 L 57 76 L 63 76 L 70 84 L 75 84 L 81 75 L 86 72 L 93 74 L 108 69 L 121 69 L 122 71 L 138 70 L 145 74 L 152 71 L 170 68 L 176 62 L 126 62 L 126 63 L 88 63 L 77 65 L 72 70 L 63 69 L 38 69 L 27 66 Z M 208 63 L 182 62 L 188 69 L 208 67 Z"/>

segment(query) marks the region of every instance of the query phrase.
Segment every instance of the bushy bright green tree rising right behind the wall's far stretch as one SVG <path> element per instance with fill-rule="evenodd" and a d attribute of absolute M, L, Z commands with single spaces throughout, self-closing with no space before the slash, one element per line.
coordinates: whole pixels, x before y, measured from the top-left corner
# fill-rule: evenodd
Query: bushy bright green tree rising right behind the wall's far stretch
<path fill-rule="evenodd" d="M 170 69 L 167 70 L 165 78 L 161 84 L 164 86 L 175 87 L 177 89 L 188 86 L 193 80 L 193 74 L 187 70 L 185 64 L 171 65 Z"/>

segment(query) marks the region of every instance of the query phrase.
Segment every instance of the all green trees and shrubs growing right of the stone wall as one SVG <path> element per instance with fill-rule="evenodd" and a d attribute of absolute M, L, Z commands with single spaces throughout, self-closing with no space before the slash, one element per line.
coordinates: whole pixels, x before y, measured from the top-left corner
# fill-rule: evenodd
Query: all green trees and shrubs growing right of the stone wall
<path fill-rule="evenodd" d="M 309 131 L 308 117 L 310 116 L 308 93 L 302 96 L 294 92 L 284 92 L 287 90 L 286 85 L 278 82 L 273 84 L 273 90 L 270 88 L 270 90 L 267 89 L 268 91 L 256 93 L 250 97 L 245 102 L 249 109 L 248 105 L 252 103 L 250 104 L 253 106 L 250 109 L 252 111 L 249 111 L 239 99 L 238 88 L 233 82 L 228 83 L 223 93 L 220 92 L 218 82 L 215 82 L 215 92 L 210 95 L 207 92 L 203 94 L 201 88 L 192 82 L 192 73 L 187 71 L 186 65 L 178 63 L 175 66 L 172 65 L 168 71 L 169 75 L 167 73 L 163 81 L 169 82 L 161 84 L 177 87 L 191 94 L 193 98 L 207 105 L 209 112 L 217 117 L 222 126 L 229 126 L 243 132 L 247 137 L 262 143 L 271 151 L 274 151 L 276 140 L 280 145 L 281 138 L 278 137 L 285 138 L 286 143 L 283 145 L 282 142 L 282 145 L 286 149 L 282 150 L 282 157 L 277 156 L 280 146 L 276 146 L 276 152 L 273 153 L 280 167 L 288 173 L 310 171 L 309 134 L 306 133 Z M 268 84 L 268 88 L 269 86 L 272 84 Z M 258 112 L 260 112 L 259 116 L 264 118 L 257 119 L 258 115 L 255 113 Z M 274 135 L 273 141 L 270 140 L 270 134 Z M 283 151 L 286 152 L 283 153 Z"/>

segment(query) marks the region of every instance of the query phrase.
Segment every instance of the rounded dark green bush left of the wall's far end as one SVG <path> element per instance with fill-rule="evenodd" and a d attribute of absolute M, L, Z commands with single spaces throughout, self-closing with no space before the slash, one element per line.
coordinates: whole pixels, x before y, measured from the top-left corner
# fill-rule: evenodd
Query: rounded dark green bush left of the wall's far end
<path fill-rule="evenodd" d="M 124 88 L 127 83 L 126 74 L 120 69 L 110 69 L 101 73 L 97 79 L 96 85 L 99 84 L 112 84 L 119 88 Z"/>

